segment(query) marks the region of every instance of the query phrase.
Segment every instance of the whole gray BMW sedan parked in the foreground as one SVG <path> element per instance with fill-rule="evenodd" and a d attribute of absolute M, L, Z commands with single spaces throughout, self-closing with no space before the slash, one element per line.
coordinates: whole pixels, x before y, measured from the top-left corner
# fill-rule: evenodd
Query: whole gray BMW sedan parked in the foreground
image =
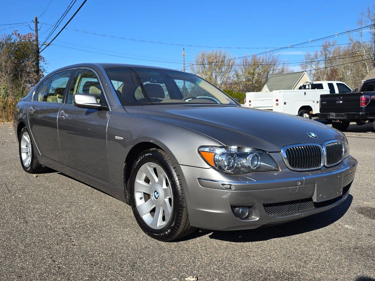
<path fill-rule="evenodd" d="M 13 126 L 26 172 L 50 167 L 99 188 L 161 241 L 325 211 L 347 198 L 357 168 L 338 130 L 242 107 L 158 67 L 55 70 L 17 104 Z"/>

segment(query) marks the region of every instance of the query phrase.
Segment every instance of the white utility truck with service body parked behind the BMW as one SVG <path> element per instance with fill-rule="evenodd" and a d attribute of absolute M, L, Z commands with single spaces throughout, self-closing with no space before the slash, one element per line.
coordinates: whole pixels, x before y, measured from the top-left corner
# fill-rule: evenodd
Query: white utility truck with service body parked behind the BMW
<path fill-rule="evenodd" d="M 315 81 L 301 84 L 298 90 L 246 93 L 244 106 L 284 112 L 311 119 L 313 114 L 319 113 L 320 95 L 351 91 L 351 88 L 344 82 Z"/>

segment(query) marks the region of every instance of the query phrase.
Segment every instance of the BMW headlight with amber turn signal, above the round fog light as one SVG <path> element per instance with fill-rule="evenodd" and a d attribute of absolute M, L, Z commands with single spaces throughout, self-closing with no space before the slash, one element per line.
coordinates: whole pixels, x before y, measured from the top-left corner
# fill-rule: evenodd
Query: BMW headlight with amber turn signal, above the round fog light
<path fill-rule="evenodd" d="M 271 155 L 257 148 L 201 146 L 198 152 L 211 167 L 232 175 L 279 170 Z"/>

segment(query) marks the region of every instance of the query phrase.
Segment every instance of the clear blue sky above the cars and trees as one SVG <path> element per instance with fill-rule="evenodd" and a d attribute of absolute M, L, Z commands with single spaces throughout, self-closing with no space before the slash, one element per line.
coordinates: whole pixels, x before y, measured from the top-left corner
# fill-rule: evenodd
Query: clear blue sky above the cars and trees
<path fill-rule="evenodd" d="M 0 24 L 30 22 L 38 16 L 39 40 L 62 15 L 70 0 L 3 1 Z M 83 0 L 78 0 L 63 20 L 65 24 Z M 183 45 L 233 46 L 248 48 L 284 47 L 351 30 L 357 27 L 359 13 L 374 1 L 99 1 L 88 0 L 68 28 L 128 39 Z M 42 24 L 45 23 L 45 24 Z M 0 29 L 8 26 L 0 26 Z M 31 23 L 31 28 L 34 24 Z M 33 32 L 26 25 L 21 33 Z M 57 29 L 57 31 L 59 28 Z M 0 32 L 10 33 L 12 28 Z M 56 34 L 57 31 L 54 33 Z M 52 36 L 53 37 L 53 36 Z M 51 37 L 51 38 L 52 38 Z M 336 38 L 347 43 L 348 36 Z M 83 32 L 63 30 L 42 55 L 46 73 L 74 63 L 117 62 L 172 69 L 182 68 L 183 46 L 124 40 Z M 76 44 L 76 45 L 71 45 Z M 57 46 L 61 45 L 61 46 Z M 82 45 L 82 46 L 77 46 Z M 321 42 L 311 45 L 321 45 Z M 65 46 L 65 47 L 62 47 Z M 83 47 L 84 46 L 84 47 Z M 285 61 L 302 60 L 305 52 L 320 47 L 286 49 L 278 52 Z M 80 51 L 101 52 L 122 57 Z M 90 48 L 88 48 L 90 47 Z M 98 50 L 101 49 L 101 50 Z M 186 61 L 192 61 L 201 48 L 185 46 Z M 103 51 L 104 50 L 104 51 Z M 223 49 L 234 56 L 267 49 Z M 121 54 L 120 54 L 121 53 Z M 127 58 L 124 58 L 127 57 Z M 295 64 L 291 64 L 295 65 Z M 299 70 L 299 66 L 294 66 Z"/>

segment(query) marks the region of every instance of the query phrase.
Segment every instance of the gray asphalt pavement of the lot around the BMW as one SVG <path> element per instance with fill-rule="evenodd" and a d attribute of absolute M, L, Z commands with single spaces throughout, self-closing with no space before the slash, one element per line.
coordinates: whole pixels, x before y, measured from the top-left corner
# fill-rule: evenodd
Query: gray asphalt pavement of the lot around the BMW
<path fill-rule="evenodd" d="M 353 124 L 345 134 L 359 166 L 342 204 L 166 243 L 123 202 L 59 172 L 24 172 L 12 125 L 0 124 L 0 280 L 375 281 L 375 133 Z"/>

